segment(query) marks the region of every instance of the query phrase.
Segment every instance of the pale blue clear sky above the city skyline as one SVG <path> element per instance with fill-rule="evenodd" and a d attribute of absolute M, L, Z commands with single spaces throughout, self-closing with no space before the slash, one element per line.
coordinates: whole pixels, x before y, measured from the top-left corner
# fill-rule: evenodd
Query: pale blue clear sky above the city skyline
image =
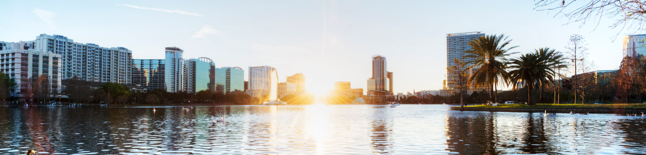
<path fill-rule="evenodd" d="M 570 23 L 534 1 L 4 1 L 0 41 L 31 41 L 41 33 L 75 42 L 125 47 L 133 59 L 208 57 L 216 67 L 273 66 L 279 81 L 295 73 L 307 91 L 348 81 L 364 88 L 371 56 L 386 57 L 394 93 L 441 89 L 446 34 L 502 34 L 528 53 L 565 51 L 568 37 L 585 37 L 597 69 L 618 69 L 627 32 L 600 23 Z M 630 33 L 632 34 L 632 33 Z M 517 55 L 515 55 L 517 56 Z"/>

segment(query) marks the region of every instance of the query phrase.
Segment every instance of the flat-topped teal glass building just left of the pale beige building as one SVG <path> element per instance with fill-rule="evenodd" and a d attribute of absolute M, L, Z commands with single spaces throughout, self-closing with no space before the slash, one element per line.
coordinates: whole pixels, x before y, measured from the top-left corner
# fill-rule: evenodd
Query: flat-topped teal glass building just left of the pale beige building
<path fill-rule="evenodd" d="M 215 81 L 218 93 L 231 93 L 233 91 L 244 91 L 244 70 L 238 67 L 224 67 L 215 69 Z"/>

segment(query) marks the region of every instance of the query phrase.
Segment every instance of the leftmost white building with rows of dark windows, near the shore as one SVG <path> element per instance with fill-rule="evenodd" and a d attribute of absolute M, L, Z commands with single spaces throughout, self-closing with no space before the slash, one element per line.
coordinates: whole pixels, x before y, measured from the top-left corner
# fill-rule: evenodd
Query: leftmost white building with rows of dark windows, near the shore
<path fill-rule="evenodd" d="M 62 55 L 35 50 L 26 42 L 0 42 L 0 71 L 16 80 L 16 88 L 10 95 L 25 101 L 30 93 L 30 80 L 40 75 L 48 77 L 51 93 L 61 93 Z"/>

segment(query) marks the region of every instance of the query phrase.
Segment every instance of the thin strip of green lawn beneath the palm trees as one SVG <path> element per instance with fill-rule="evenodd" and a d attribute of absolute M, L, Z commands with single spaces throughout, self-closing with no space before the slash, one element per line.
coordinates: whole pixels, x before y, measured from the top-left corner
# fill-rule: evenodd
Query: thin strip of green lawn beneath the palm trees
<path fill-rule="evenodd" d="M 497 107 L 497 108 L 551 108 L 551 109 L 646 109 L 646 104 L 501 104 L 470 105 L 465 107 Z"/>

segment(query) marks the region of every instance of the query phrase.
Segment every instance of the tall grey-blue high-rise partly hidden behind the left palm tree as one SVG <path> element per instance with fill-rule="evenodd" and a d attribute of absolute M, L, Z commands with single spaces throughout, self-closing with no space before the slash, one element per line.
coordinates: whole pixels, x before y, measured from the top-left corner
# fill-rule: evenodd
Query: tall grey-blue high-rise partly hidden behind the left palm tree
<path fill-rule="evenodd" d="M 446 34 L 446 67 L 450 68 L 452 66 L 456 66 L 457 64 L 453 63 L 453 59 L 458 59 L 462 62 L 470 62 L 473 61 L 474 59 L 466 59 L 464 56 L 466 53 L 464 51 L 471 50 L 471 46 L 469 45 L 470 41 L 473 41 L 477 39 L 478 37 L 485 36 L 485 33 L 482 32 L 467 32 L 467 33 L 451 33 L 451 34 Z M 472 63 L 466 64 L 465 68 L 468 68 L 469 66 L 473 65 Z M 464 69 L 464 68 L 461 68 Z M 472 68 L 472 70 L 477 70 L 477 68 Z M 455 88 L 455 82 L 453 79 L 456 75 L 450 73 L 448 70 L 446 71 L 447 75 L 447 83 L 448 83 L 448 88 L 453 89 Z M 468 75 L 471 76 L 471 75 Z M 468 93 L 468 89 L 463 89 L 461 90 L 462 93 Z"/>

